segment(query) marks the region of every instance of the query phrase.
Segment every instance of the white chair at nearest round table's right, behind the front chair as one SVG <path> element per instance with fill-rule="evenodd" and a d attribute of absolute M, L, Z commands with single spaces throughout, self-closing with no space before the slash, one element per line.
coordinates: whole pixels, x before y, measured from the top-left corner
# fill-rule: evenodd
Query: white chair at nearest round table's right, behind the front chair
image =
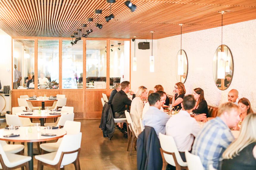
<path fill-rule="evenodd" d="M 63 130 L 65 130 L 67 132 L 67 135 L 78 134 L 80 132 L 80 129 L 81 129 L 81 122 L 66 121 L 63 126 Z M 58 148 L 60 147 L 61 141 L 62 141 L 62 138 L 58 139 L 57 142 L 42 143 L 40 145 L 40 148 L 47 152 L 56 152 L 58 150 Z"/>

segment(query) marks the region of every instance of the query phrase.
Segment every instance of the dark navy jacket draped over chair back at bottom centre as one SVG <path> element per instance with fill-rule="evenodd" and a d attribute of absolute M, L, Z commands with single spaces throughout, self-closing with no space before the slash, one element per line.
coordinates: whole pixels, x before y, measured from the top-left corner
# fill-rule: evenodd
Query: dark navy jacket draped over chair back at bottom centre
<path fill-rule="evenodd" d="M 137 139 L 137 169 L 161 170 L 162 166 L 160 141 L 156 131 L 150 126 L 145 126 Z"/>

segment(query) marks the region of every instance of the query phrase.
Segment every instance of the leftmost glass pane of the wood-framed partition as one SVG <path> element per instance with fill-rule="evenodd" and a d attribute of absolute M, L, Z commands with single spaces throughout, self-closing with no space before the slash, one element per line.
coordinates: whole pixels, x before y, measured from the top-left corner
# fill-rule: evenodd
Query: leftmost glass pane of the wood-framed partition
<path fill-rule="evenodd" d="M 35 41 L 13 40 L 13 88 L 34 89 Z"/>

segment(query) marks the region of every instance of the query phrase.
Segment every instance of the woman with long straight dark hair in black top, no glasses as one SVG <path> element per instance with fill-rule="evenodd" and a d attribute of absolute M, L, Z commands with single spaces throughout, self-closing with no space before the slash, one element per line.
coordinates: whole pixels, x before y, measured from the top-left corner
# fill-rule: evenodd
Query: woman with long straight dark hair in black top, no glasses
<path fill-rule="evenodd" d="M 192 95 L 196 100 L 196 109 L 194 109 L 193 112 L 199 114 L 205 113 L 206 117 L 209 117 L 208 105 L 207 102 L 205 101 L 204 90 L 201 88 L 196 88 L 193 90 Z"/>

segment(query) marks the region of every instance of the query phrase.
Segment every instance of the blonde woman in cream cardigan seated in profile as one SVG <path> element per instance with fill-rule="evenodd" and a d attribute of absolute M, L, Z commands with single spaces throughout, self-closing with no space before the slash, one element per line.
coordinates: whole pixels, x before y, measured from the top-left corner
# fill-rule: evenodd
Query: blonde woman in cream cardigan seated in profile
<path fill-rule="evenodd" d="M 142 99 L 148 97 L 148 90 L 144 86 L 140 86 L 136 93 L 136 97 L 132 100 L 130 115 L 132 122 L 135 126 L 135 135 L 138 136 L 141 133 L 140 118 L 142 118 L 142 112 L 144 108 L 144 103 Z"/>

